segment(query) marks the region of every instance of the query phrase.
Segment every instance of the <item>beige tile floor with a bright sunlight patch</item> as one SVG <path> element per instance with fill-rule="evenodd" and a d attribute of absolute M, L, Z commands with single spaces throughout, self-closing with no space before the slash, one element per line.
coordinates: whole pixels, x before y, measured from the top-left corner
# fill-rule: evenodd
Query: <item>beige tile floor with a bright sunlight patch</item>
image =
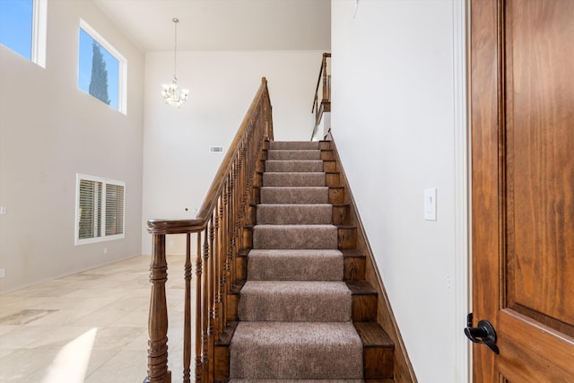
<path fill-rule="evenodd" d="M 0 382 L 141 383 L 150 257 L 0 295 Z M 170 370 L 180 382 L 184 257 L 168 257 Z"/>

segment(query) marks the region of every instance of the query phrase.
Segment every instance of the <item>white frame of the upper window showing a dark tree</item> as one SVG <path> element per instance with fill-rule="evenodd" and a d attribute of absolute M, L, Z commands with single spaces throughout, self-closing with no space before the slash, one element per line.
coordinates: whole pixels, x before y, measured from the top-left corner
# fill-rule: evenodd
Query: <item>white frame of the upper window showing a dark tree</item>
<path fill-rule="evenodd" d="M 108 53 L 117 59 L 118 68 L 117 68 L 117 111 L 122 114 L 127 114 L 127 59 L 124 57 L 119 51 L 114 48 L 107 39 L 104 39 L 100 33 L 94 30 L 90 24 L 85 22 L 82 18 L 80 19 L 80 25 L 78 26 L 78 75 L 76 78 L 80 78 L 80 29 L 83 30 L 91 39 L 94 39 L 98 44 L 100 44 L 101 48 L 104 48 L 108 51 Z M 83 91 L 80 88 L 80 83 L 78 80 L 77 83 L 78 89 Z M 85 91 L 84 91 L 85 92 Z M 88 93 L 88 92 L 86 92 Z M 90 93 L 88 93 L 90 94 Z M 90 94 L 91 96 L 91 94 Z M 91 96 L 93 97 L 93 96 Z M 96 98 L 97 99 L 97 98 Z M 112 107 L 110 107 L 112 108 Z M 112 108 L 115 109 L 115 108 Z"/>

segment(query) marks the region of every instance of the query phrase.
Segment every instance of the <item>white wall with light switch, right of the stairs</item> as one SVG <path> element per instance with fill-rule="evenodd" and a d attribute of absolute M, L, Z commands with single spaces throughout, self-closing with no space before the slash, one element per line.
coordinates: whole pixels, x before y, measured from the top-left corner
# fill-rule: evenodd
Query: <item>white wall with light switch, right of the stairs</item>
<path fill-rule="evenodd" d="M 332 2 L 335 142 L 418 380 L 463 382 L 464 4 L 354 4 Z"/>

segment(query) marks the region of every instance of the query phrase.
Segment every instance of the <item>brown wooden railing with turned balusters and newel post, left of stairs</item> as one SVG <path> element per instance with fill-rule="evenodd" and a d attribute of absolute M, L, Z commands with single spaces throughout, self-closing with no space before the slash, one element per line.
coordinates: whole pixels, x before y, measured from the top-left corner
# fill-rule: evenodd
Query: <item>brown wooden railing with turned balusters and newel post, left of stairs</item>
<path fill-rule="evenodd" d="M 273 140 L 272 107 L 263 77 L 261 86 L 192 220 L 150 220 L 152 293 L 148 319 L 148 363 L 144 383 L 170 383 L 168 369 L 168 280 L 166 235 L 186 234 L 183 382 L 191 381 L 192 322 L 195 322 L 195 381 L 213 382 L 215 343 L 227 326 L 227 295 L 235 282 L 236 257 L 243 246 L 248 204 L 257 161 Z M 192 235 L 196 236 L 195 315 L 192 307 Z M 194 316 L 194 320 L 192 320 Z"/>

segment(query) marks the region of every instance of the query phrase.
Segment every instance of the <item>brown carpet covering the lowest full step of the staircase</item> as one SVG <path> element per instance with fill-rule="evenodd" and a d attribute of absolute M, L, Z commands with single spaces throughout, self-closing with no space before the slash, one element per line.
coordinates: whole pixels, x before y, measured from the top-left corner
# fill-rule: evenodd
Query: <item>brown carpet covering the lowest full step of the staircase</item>
<path fill-rule="evenodd" d="M 361 379 L 361 338 L 350 322 L 239 322 L 231 379 Z"/>

